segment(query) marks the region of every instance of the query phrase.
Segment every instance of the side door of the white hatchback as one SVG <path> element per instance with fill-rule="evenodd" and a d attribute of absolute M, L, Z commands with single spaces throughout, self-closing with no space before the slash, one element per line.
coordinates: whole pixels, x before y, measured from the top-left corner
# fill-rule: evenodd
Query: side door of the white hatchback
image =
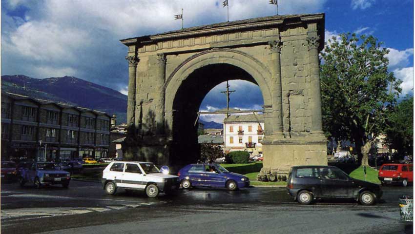
<path fill-rule="evenodd" d="M 145 178 L 140 167 L 136 163 L 125 163 L 125 170 L 121 177 L 119 187 L 132 189 L 145 189 Z"/>

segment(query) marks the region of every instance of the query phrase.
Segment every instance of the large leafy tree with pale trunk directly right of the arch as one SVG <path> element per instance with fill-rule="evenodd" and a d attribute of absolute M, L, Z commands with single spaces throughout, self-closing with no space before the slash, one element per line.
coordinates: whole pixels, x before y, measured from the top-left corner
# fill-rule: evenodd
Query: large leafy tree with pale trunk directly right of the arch
<path fill-rule="evenodd" d="M 400 81 L 388 72 L 388 53 L 373 36 L 359 39 L 350 33 L 329 39 L 321 53 L 324 131 L 351 139 L 362 165 L 368 165 L 372 144 L 385 132 L 401 91 Z"/>

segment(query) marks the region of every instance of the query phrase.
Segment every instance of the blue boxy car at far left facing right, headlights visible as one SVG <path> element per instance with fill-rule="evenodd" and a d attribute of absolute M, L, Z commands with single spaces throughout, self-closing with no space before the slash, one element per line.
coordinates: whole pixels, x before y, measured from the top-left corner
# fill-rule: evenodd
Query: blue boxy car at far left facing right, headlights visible
<path fill-rule="evenodd" d="M 53 162 L 33 162 L 30 167 L 21 171 L 19 183 L 24 186 L 26 182 L 31 182 L 36 188 L 42 185 L 62 184 L 63 188 L 67 188 L 70 180 L 71 174 L 56 170 Z"/>

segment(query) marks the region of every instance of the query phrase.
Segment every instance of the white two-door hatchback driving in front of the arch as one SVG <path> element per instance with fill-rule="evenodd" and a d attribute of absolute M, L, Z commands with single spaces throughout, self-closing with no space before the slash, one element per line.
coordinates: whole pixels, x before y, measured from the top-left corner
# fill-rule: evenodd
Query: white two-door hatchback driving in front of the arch
<path fill-rule="evenodd" d="M 137 161 L 111 162 L 104 169 L 102 183 L 109 195 L 117 189 L 126 189 L 145 191 L 149 197 L 172 192 L 180 186 L 179 176 L 160 173 L 152 162 Z"/>

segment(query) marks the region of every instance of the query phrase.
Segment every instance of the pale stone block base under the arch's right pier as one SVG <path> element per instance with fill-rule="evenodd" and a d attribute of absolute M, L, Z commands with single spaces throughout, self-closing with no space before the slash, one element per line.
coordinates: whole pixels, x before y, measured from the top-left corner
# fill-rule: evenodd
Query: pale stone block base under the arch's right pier
<path fill-rule="evenodd" d="M 327 142 L 325 139 L 284 139 L 263 142 L 263 153 L 265 157 L 259 177 L 266 177 L 270 174 L 288 177 L 292 166 L 327 166 Z"/>

